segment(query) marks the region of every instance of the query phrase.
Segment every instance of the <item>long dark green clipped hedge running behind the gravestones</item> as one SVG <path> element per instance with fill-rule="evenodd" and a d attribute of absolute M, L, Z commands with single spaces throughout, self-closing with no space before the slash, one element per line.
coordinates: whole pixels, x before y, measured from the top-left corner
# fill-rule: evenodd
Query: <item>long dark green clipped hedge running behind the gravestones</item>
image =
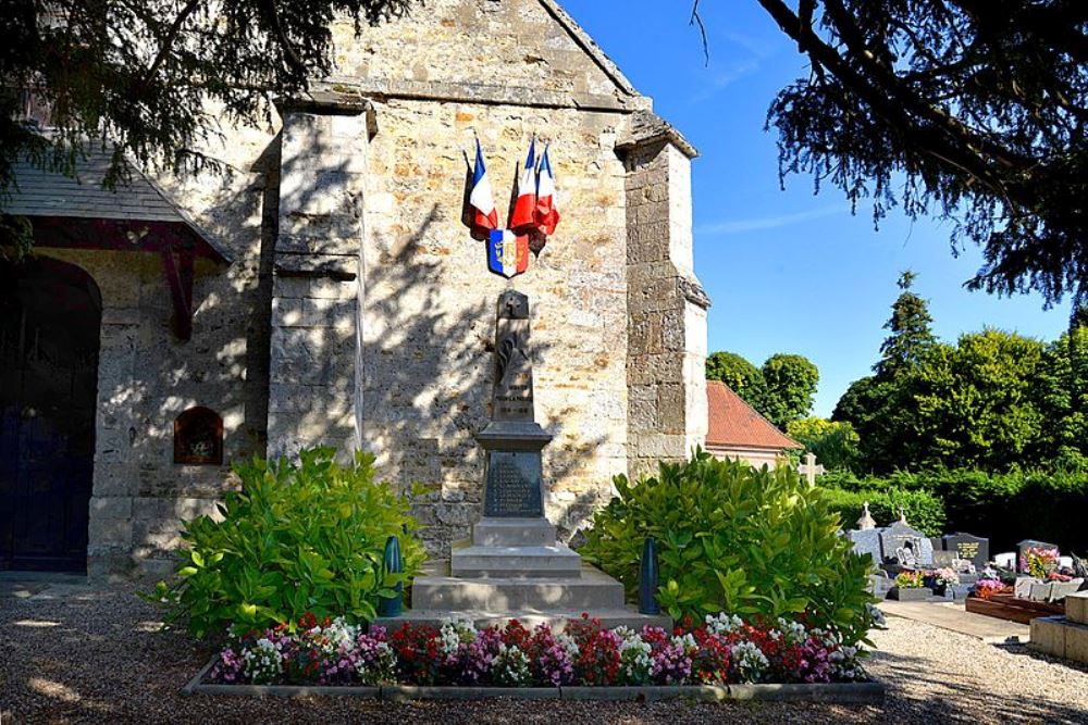
<path fill-rule="evenodd" d="M 929 493 L 944 504 L 947 533 L 985 536 L 994 553 L 1011 551 L 1024 539 L 1056 543 L 1063 552 L 1088 552 L 1088 473 L 957 470 L 860 478 L 833 472 L 819 483 L 843 492 Z M 908 508 L 907 521 L 922 529 L 913 516 Z M 875 512 L 874 517 L 878 524 L 886 523 Z M 856 521 L 845 513 L 843 520 L 846 526 Z"/>

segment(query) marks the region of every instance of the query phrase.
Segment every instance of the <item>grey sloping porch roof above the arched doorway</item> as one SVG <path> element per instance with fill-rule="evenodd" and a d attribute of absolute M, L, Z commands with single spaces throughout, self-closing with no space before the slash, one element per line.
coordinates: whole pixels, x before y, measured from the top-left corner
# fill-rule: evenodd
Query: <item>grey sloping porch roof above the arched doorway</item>
<path fill-rule="evenodd" d="M 183 229 L 208 257 L 230 262 L 231 254 L 185 213 L 166 192 L 133 164 L 129 182 L 102 187 L 111 153 L 91 145 L 75 162 L 74 174 L 42 171 L 27 161 L 12 165 L 15 184 L 0 210 L 15 216 L 110 222 L 161 222 Z"/>

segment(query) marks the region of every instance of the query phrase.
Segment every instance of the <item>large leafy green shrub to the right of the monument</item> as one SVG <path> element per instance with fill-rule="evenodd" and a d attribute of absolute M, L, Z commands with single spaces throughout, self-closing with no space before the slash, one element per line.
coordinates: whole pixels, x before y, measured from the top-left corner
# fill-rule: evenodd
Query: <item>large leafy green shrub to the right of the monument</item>
<path fill-rule="evenodd" d="M 697 451 L 631 485 L 593 518 L 581 553 L 634 596 L 643 541 L 658 541 L 658 601 L 676 618 L 726 611 L 801 617 L 850 642 L 871 620 L 869 558 L 839 535 L 824 492 L 794 471 L 756 470 Z"/>

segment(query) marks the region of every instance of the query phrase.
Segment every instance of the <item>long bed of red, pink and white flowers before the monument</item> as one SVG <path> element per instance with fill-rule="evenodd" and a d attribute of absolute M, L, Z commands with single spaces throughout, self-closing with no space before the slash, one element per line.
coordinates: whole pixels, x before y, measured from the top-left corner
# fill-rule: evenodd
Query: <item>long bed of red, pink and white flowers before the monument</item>
<path fill-rule="evenodd" d="M 478 629 L 404 625 L 388 634 L 312 615 L 292 633 L 281 625 L 233 640 L 209 677 L 221 684 L 726 685 L 867 679 L 863 652 L 830 628 L 778 620 L 772 626 L 710 615 L 668 632 L 606 629 L 583 615 L 567 632 L 530 630 L 516 620 Z"/>

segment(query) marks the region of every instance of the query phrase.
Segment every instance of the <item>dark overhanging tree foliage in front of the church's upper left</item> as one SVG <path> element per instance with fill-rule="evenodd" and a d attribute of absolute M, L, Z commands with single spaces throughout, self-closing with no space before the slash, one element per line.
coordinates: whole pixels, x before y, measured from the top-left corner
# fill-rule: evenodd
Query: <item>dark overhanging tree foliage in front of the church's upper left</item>
<path fill-rule="evenodd" d="M 415 2 L 0 0 L 0 202 L 18 159 L 71 173 L 89 143 L 113 149 L 107 184 L 123 179 L 126 154 L 203 166 L 195 149 L 221 123 L 268 122 L 270 99 L 332 71 L 335 17 L 359 28 Z M 50 135 L 25 121 L 28 107 L 44 107 Z"/>

